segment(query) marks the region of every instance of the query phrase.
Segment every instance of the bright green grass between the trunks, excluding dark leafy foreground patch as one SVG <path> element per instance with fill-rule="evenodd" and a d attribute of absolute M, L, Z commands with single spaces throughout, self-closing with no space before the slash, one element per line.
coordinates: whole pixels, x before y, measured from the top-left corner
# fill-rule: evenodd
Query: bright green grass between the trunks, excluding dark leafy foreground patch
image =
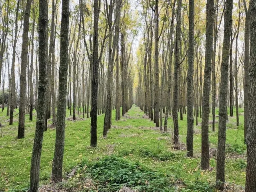
<path fill-rule="evenodd" d="M 239 112 L 242 113 L 243 109 L 240 109 Z M 67 117 L 68 113 L 69 111 L 67 111 Z M 154 123 L 149 119 L 142 118 L 143 114 L 138 107 L 133 106 L 127 113 L 130 118 L 121 118 L 121 120 L 115 121 L 115 110 L 113 110 L 113 128 L 108 132 L 106 139 L 102 138 L 104 114 L 98 116 L 97 148 L 90 148 L 90 119 L 76 122 L 66 121 L 64 174 L 68 174 L 74 166 L 82 162 L 94 162 L 100 158 L 115 155 L 130 162 L 143 164 L 159 174 L 167 174 L 170 180 L 182 181 L 184 189 L 180 191 L 196 191 L 195 188 L 198 186 L 195 185 L 196 182 L 207 182 L 209 185 L 215 183 L 216 160 L 214 158 L 210 160 L 211 171 L 200 170 L 200 134 L 194 134 L 195 158 L 187 158 L 186 151 L 173 150 L 170 128 L 167 133 L 154 129 Z M 216 114 L 218 114 L 218 109 Z M 79 116 L 81 117 L 81 115 Z M 34 118 L 30 122 L 28 117 L 26 115 L 25 138 L 18 140 L 16 139 L 18 116 L 14 117 L 14 124 L 9 126 L 6 110 L 0 112 L 0 122 L 4 125 L 2 127 L 3 137 L 0 137 L 0 191 L 22 191 L 29 186 L 36 120 Z M 169 118 L 169 122 L 172 122 L 171 118 Z M 201 122 L 200 118 L 198 122 Z M 184 143 L 186 143 L 186 124 L 186 114 L 183 114 L 183 120 L 179 120 L 179 128 L 180 141 Z M 170 126 L 172 127 L 172 123 Z M 210 130 L 211 126 L 210 124 Z M 201 127 L 194 126 L 194 129 L 200 130 Z M 210 148 L 217 148 L 218 123 L 216 132 L 210 130 Z M 243 116 L 240 116 L 240 126 L 238 127 L 236 118 L 229 117 L 226 129 L 226 181 L 238 186 L 244 186 L 246 176 L 246 146 L 243 135 Z M 50 181 L 54 142 L 55 130 L 48 129 L 44 133 L 42 146 L 40 184 L 47 184 Z M 190 190 L 193 186 L 194 190 Z"/>

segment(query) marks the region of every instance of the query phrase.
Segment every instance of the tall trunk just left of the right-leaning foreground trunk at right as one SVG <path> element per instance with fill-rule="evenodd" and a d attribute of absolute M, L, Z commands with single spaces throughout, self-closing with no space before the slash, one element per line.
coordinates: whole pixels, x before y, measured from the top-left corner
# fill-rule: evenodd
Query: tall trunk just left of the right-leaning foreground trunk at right
<path fill-rule="evenodd" d="M 212 66 L 212 44 L 214 26 L 214 0 L 207 0 L 206 3 L 206 44 L 205 44 L 205 66 L 204 66 L 204 87 L 202 96 L 202 148 L 201 168 L 209 168 L 209 98 Z"/>

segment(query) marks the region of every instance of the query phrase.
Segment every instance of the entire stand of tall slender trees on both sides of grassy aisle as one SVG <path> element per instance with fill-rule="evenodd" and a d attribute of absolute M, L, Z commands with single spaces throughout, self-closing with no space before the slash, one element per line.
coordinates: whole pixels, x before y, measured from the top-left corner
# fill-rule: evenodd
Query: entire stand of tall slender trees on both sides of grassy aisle
<path fill-rule="evenodd" d="M 203 170 L 210 160 L 209 115 L 215 131 L 219 107 L 219 189 L 225 182 L 228 107 L 233 116 L 235 106 L 238 126 L 238 108 L 244 106 L 246 192 L 256 191 L 256 1 L 207 0 L 205 5 L 200 0 L 141 0 L 137 4 L 138 11 L 126 0 L 0 2 L 2 110 L 7 105 L 12 125 L 18 108 L 18 138 L 25 137 L 25 114 L 33 120 L 36 109 L 30 192 L 39 187 L 48 119 L 52 117 L 56 126 L 52 180 L 61 182 L 66 109 L 74 121 L 77 114 L 90 116 L 90 146 L 96 147 L 97 116 L 105 116 L 106 137 L 112 110 L 119 120 L 133 102 L 160 130 L 172 127 L 168 122 L 172 115 L 177 150 L 178 111 L 181 120 L 187 113 L 188 157 L 193 157 L 194 118 L 196 125 L 202 118 Z"/>

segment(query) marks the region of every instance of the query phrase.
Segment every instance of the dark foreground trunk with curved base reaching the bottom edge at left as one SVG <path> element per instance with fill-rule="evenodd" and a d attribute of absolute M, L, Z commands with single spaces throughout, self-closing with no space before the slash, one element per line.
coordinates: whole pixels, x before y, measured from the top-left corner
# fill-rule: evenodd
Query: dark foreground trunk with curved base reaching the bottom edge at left
<path fill-rule="evenodd" d="M 30 166 L 30 189 L 29 192 L 38 192 L 40 159 L 42 152 L 42 142 L 44 135 L 45 119 L 45 95 L 46 95 L 46 65 L 47 65 L 47 23 L 48 23 L 48 3 L 46 0 L 39 0 L 39 17 L 38 17 L 38 60 L 39 60 L 39 77 L 38 77 L 38 103 L 36 132 Z"/>

